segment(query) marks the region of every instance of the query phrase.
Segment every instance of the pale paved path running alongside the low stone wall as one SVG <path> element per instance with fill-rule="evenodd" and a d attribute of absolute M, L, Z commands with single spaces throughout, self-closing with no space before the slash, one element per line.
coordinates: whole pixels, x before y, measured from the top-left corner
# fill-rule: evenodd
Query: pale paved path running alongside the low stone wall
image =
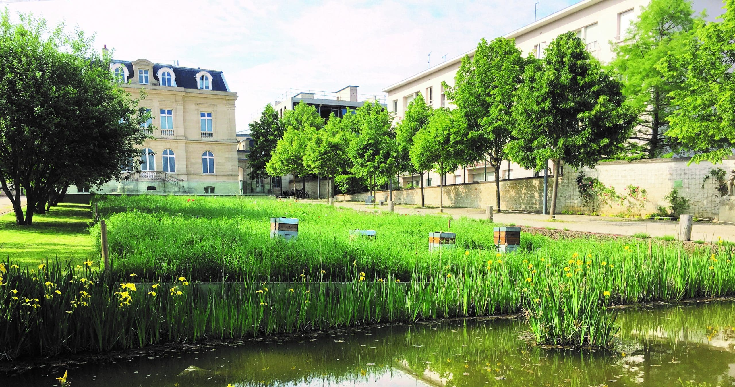
<path fill-rule="evenodd" d="M 314 200 L 326 203 L 325 200 Z M 360 202 L 337 202 L 337 206 L 348 207 L 359 211 L 388 211 L 388 206 L 365 206 Z M 439 209 L 417 208 L 416 206 L 395 206 L 398 214 L 439 214 Z M 484 219 L 484 209 L 444 209 L 444 213 L 455 219 L 465 216 L 475 219 Z M 678 236 L 678 221 L 665 220 L 632 220 L 617 217 L 593 217 L 589 215 L 556 215 L 556 220 L 548 220 L 548 215 L 525 214 L 520 212 L 495 212 L 493 221 L 496 223 L 514 223 L 527 227 L 568 229 L 571 231 L 586 231 L 601 234 L 634 235 L 645 233 L 650 236 Z M 735 242 L 735 225 L 723 223 L 698 223 L 692 225 L 692 240 L 717 242 L 719 238 Z"/>

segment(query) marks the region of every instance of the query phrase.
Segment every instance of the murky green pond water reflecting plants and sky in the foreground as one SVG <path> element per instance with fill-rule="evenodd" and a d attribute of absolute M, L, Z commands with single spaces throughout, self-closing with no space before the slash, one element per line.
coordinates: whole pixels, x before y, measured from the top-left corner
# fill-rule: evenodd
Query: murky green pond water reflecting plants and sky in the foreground
<path fill-rule="evenodd" d="M 69 371 L 73 387 L 735 385 L 735 302 L 619 312 L 614 350 L 542 349 L 516 319 L 379 325 L 151 355 Z M 0 376 L 0 386 L 58 385 L 62 372 Z"/>

